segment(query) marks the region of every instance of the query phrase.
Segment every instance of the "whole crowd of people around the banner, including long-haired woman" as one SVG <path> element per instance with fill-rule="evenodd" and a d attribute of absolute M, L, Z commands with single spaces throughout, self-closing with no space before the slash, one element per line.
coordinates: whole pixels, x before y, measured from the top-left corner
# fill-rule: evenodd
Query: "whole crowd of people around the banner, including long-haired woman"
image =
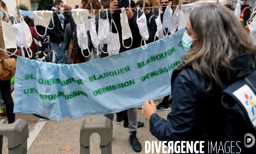
<path fill-rule="evenodd" d="M 181 0 L 182 5 L 194 2 L 195 0 Z M 53 29 L 47 30 L 50 45 L 55 53 L 55 63 L 67 64 L 69 58 L 73 64 L 78 64 L 108 57 L 108 44 L 103 43 L 103 46 L 95 47 L 92 42 L 93 36 L 90 33 L 90 26 L 94 26 L 91 25 L 92 23 L 95 24 L 97 33 L 102 30 L 100 20 L 109 20 L 112 27 L 111 32 L 113 34 L 118 32 L 120 43 L 118 53 L 141 46 L 142 36 L 138 28 L 137 17 L 140 18 L 143 14 L 145 14 L 147 20 L 146 29 L 149 34 L 145 43 L 148 44 L 160 39 L 155 37 L 157 33 L 156 19 L 160 16 L 161 22 L 163 22 L 166 7 L 169 6 L 169 3 L 173 4 L 173 1 L 161 0 L 160 3 L 163 6 L 160 11 L 157 7 L 149 9 L 148 3 L 145 3 L 145 8 L 142 10 L 143 0 L 139 0 L 137 3 L 131 0 L 125 12 L 132 37 L 122 40 L 123 31 L 120 19 L 122 10 L 115 10 L 120 8 L 119 0 L 111 0 L 110 5 L 104 4 L 104 9 L 108 9 L 104 12 L 99 11 L 101 3 L 98 0 L 82 0 L 81 4 L 75 6 L 75 9 L 87 9 L 89 13 L 86 25 L 88 48 L 81 50 L 76 35 L 77 25 L 71 10 L 64 9 L 63 1 L 55 0 L 51 9 L 51 11 L 54 11 L 53 22 L 50 21 L 48 26 L 49 28 L 53 27 Z M 230 81 L 233 81 L 233 78 L 241 69 L 240 66 L 235 64 L 237 62 L 236 58 L 240 58 L 244 68 L 253 68 L 256 62 L 254 58 L 256 48 L 253 46 L 247 32 L 249 29 L 246 24 L 251 14 L 250 7 L 247 5 L 247 0 L 241 0 L 240 5 L 240 23 L 233 14 L 234 8 L 231 5 L 225 5 L 229 8 L 227 9 L 217 4 L 209 4 L 190 13 L 189 20 L 186 23 L 186 32 L 182 39 L 184 44 L 188 43 L 190 45 L 190 50 L 182 58 L 184 63 L 176 68 L 172 74 L 171 99 L 170 95 L 166 96 L 157 106 L 153 100 L 146 100 L 143 106 L 143 114 L 150 120 L 150 131 L 158 140 L 204 140 L 206 142 L 223 140 L 225 136 L 225 118 L 224 114 L 219 111 L 221 103 L 218 96 L 230 84 Z M 138 7 L 140 7 L 139 10 L 131 9 Z M 2 0 L 0 0 L 0 8 L 7 11 L 7 7 Z M 91 9 L 98 11 L 92 12 Z M 109 9 L 112 9 L 112 12 Z M 208 13 L 209 10 L 212 11 L 212 14 Z M 32 19 L 28 16 L 23 17 L 23 19 L 30 26 L 32 37 L 35 40 L 40 40 L 41 37 L 35 32 L 36 29 L 33 27 Z M 10 21 L 13 24 L 13 20 L 6 20 L 6 16 L 2 20 Z M 0 29 L 2 29 L 1 26 Z M 40 27 L 37 27 L 37 31 L 40 33 Z M 165 35 L 170 34 L 169 29 L 165 29 L 163 32 Z M 212 33 L 215 35 L 212 35 Z M 142 46 L 145 43 L 143 42 Z M 4 48 L 2 30 L 0 30 L 0 48 Z M 30 49 L 34 54 L 38 52 L 34 40 Z M 0 58 L 7 57 L 4 51 L 0 51 Z M 248 60 L 250 60 L 250 66 L 245 65 Z M 0 91 L 6 104 L 8 121 L 13 123 L 15 114 L 13 113 L 10 80 L 0 80 Z M 170 110 L 169 106 L 171 104 L 172 112 L 168 114 L 167 120 L 156 114 L 157 111 Z M 144 123 L 138 122 L 137 112 L 136 107 L 116 113 L 116 121 L 124 121 L 123 126 L 129 128 L 129 141 L 133 150 L 140 152 L 142 146 L 136 134 L 137 128 L 142 127 Z M 219 114 L 216 114 L 216 112 L 219 112 Z M 104 116 L 113 122 L 114 114 L 105 114 Z M 207 146 L 205 145 L 205 147 Z"/>

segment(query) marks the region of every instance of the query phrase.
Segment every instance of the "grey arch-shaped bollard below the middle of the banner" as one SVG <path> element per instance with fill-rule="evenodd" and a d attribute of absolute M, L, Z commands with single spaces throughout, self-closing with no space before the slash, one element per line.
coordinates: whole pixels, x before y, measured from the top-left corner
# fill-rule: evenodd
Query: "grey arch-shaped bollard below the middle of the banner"
<path fill-rule="evenodd" d="M 90 154 L 90 135 L 98 133 L 102 145 L 102 154 L 112 154 L 112 126 L 111 120 L 102 117 L 101 121 L 92 122 L 87 117 L 80 129 L 80 154 Z"/>

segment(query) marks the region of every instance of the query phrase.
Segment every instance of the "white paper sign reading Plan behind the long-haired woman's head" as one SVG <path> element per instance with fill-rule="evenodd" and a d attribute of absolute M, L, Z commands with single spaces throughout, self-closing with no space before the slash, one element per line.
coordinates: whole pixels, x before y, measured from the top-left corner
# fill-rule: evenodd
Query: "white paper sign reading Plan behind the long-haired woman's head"
<path fill-rule="evenodd" d="M 186 22 L 189 19 L 189 14 L 195 9 L 195 7 L 205 5 L 207 3 L 216 3 L 216 2 L 209 0 L 206 2 L 199 1 L 196 3 L 181 5 L 181 9 L 179 10 L 180 22 L 179 22 L 178 30 L 185 28 Z"/>

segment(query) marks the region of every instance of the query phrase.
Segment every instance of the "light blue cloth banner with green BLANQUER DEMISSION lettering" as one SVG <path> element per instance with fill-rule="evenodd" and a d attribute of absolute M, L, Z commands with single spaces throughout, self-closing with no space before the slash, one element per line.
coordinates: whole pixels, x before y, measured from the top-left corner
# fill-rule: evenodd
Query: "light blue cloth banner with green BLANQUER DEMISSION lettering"
<path fill-rule="evenodd" d="M 185 52 L 184 29 L 163 40 L 99 60 L 61 65 L 17 57 L 15 113 L 72 120 L 143 105 L 171 93 L 171 75 Z"/>

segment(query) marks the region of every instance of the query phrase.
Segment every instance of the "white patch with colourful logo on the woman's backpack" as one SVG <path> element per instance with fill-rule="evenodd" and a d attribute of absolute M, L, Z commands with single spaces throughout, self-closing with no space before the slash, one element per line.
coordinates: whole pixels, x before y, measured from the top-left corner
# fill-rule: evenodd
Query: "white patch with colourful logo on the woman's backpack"
<path fill-rule="evenodd" d="M 256 126 L 256 96 L 253 93 L 252 89 L 244 85 L 241 88 L 233 92 L 233 95 L 243 104 L 246 109 L 249 118 L 254 126 Z"/>

